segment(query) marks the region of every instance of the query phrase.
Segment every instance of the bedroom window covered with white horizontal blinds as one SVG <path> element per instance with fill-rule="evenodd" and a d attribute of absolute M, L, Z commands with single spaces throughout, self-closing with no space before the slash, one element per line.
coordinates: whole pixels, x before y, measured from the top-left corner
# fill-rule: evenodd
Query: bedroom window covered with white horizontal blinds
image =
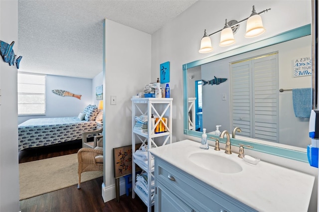
<path fill-rule="evenodd" d="M 18 73 L 18 115 L 45 115 L 45 75 Z"/>

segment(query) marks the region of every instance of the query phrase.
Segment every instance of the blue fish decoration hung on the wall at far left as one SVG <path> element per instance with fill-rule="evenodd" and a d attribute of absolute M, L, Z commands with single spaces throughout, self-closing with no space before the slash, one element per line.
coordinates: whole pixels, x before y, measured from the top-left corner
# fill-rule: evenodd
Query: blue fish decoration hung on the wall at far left
<path fill-rule="evenodd" d="M 0 40 L 0 55 L 2 56 L 3 61 L 8 63 L 9 66 L 14 65 L 15 63 L 16 68 L 19 69 L 19 64 L 22 56 L 19 56 L 15 59 L 16 55 L 14 54 L 14 51 L 12 49 L 13 45 L 14 41 L 12 41 L 12 43 L 9 45 L 8 43 Z"/>

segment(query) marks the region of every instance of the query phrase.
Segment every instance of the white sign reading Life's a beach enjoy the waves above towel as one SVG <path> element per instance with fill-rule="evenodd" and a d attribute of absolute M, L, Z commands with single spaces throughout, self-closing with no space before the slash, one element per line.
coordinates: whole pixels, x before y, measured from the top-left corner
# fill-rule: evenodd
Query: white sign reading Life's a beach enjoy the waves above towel
<path fill-rule="evenodd" d="M 293 60 L 294 77 L 310 76 L 312 73 L 312 59 L 310 57 L 302 57 Z"/>

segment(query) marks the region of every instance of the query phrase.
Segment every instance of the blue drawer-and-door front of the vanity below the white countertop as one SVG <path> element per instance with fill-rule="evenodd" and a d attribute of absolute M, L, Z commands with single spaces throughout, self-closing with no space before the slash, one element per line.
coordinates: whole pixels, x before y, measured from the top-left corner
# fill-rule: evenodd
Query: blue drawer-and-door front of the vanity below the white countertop
<path fill-rule="evenodd" d="M 155 178 L 156 212 L 256 212 L 159 157 L 155 157 Z"/>

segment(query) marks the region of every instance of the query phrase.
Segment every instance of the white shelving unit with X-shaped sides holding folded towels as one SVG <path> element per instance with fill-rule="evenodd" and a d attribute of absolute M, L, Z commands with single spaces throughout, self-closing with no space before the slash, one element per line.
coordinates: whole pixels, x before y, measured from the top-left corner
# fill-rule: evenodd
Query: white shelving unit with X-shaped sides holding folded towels
<path fill-rule="evenodd" d="M 172 142 L 172 98 L 136 98 L 132 101 L 132 151 L 135 153 L 135 144 L 141 143 L 141 147 L 145 146 L 147 149 L 152 147 L 158 147 Z M 152 127 L 152 114 L 154 117 L 159 117 L 158 121 L 155 121 L 155 126 Z M 148 132 L 140 132 L 134 130 L 136 123 L 135 116 L 147 115 L 148 117 Z M 161 118 L 167 118 L 167 125 L 165 125 L 166 132 L 155 133 L 156 126 L 160 123 Z M 156 142 L 159 141 L 159 142 Z M 153 161 L 153 163 L 152 163 Z M 141 190 L 136 188 L 136 167 L 137 164 L 148 174 L 148 196 L 146 197 Z M 154 180 L 154 159 L 150 157 L 148 152 L 147 163 L 142 163 L 135 160 L 132 161 L 132 198 L 135 198 L 137 194 L 141 200 L 148 207 L 148 212 L 151 212 L 152 206 L 155 203 L 154 188 L 152 188 L 152 179 Z"/>

